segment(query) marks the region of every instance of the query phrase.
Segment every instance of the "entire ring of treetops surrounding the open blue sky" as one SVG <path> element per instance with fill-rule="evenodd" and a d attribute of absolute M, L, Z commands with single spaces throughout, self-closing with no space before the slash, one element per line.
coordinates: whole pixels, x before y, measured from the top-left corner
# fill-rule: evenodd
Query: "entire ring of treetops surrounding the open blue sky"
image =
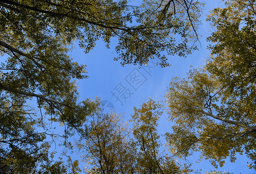
<path fill-rule="evenodd" d="M 122 66 L 157 58 L 167 67 L 164 53 L 185 57 L 197 49 L 202 7 L 196 0 L 2 0 L 0 173 L 82 172 L 66 153 L 73 148 L 83 154 L 86 173 L 189 173 L 176 158 L 194 151 L 216 168 L 246 154 L 256 170 L 254 0 L 213 9 L 207 63 L 171 80 L 165 95 L 175 122 L 165 134 L 171 154 L 160 150 L 157 133 L 163 104 L 150 99 L 135 107 L 129 129 L 121 115 L 103 114 L 99 99 L 78 102 L 76 81 L 88 76 L 69 55 L 75 42 L 88 53 L 97 41 L 110 48 L 117 38 L 114 60 Z M 59 138 L 67 163 L 50 150 Z"/>

